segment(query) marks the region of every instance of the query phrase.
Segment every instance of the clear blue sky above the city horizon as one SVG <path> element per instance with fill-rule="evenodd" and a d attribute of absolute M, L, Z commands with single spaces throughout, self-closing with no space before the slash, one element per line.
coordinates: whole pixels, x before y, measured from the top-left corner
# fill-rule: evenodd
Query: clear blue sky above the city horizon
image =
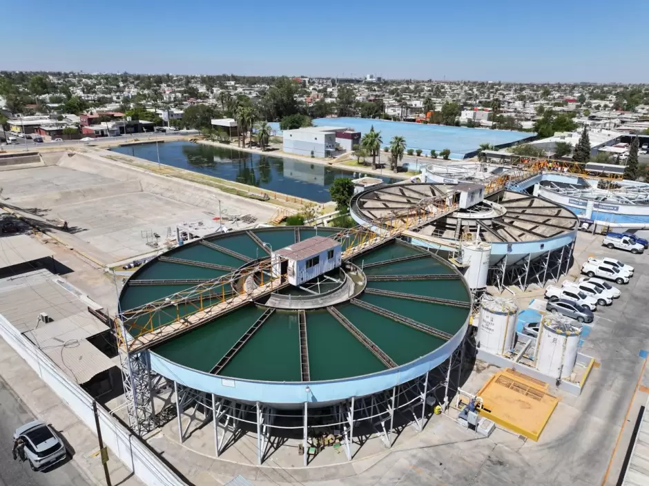
<path fill-rule="evenodd" d="M 20 39 L 0 55 L 9 70 L 649 82 L 649 0 L 0 0 L 0 12 Z"/>

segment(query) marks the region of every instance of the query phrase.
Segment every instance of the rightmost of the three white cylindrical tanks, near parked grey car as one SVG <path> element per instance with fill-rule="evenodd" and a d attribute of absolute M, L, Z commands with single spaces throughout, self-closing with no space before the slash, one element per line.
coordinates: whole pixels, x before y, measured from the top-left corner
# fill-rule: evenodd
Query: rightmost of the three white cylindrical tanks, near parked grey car
<path fill-rule="evenodd" d="M 564 317 L 546 317 L 539 329 L 536 369 L 552 378 L 568 378 L 577 361 L 581 324 Z"/>

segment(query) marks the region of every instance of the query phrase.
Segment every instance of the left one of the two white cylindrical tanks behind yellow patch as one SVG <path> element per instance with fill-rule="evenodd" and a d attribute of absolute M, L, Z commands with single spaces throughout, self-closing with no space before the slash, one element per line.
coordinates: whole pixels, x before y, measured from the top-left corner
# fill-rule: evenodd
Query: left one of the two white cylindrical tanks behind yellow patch
<path fill-rule="evenodd" d="M 485 294 L 480 303 L 478 346 L 494 354 L 504 354 L 514 346 L 516 302 Z"/>

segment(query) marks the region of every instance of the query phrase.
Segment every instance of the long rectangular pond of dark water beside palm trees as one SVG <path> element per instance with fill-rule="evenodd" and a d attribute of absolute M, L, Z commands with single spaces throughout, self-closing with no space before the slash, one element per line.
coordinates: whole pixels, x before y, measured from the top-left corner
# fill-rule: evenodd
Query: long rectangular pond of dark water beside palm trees
<path fill-rule="evenodd" d="M 155 145 L 137 144 L 110 150 L 157 162 Z M 351 171 L 341 171 L 323 164 L 309 164 L 270 153 L 261 155 L 193 142 L 165 142 L 158 144 L 157 149 L 161 164 L 316 202 L 331 201 L 329 186 L 333 181 L 338 177 L 353 178 L 354 175 Z M 381 179 L 389 184 L 400 180 L 391 177 Z"/>

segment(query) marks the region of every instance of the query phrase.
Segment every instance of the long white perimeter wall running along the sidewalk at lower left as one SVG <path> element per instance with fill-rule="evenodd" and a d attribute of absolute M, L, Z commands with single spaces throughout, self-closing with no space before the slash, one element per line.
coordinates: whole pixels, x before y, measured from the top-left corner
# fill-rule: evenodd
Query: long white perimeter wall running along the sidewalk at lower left
<path fill-rule="evenodd" d="M 66 402 L 88 429 L 96 431 L 93 398 L 70 381 L 45 353 L 22 336 L 3 315 L 0 315 L 0 337 L 8 342 L 61 400 Z M 98 412 L 105 445 L 142 480 L 142 483 L 151 486 L 187 485 L 119 420 L 101 407 L 98 407 Z"/>

